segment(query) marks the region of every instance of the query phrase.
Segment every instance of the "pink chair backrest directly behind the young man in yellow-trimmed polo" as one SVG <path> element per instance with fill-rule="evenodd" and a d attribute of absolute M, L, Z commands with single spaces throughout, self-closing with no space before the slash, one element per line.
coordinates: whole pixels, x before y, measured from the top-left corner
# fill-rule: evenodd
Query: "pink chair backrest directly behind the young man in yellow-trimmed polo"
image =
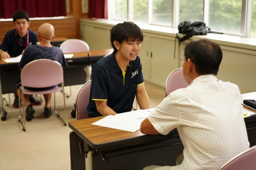
<path fill-rule="evenodd" d="M 75 99 L 76 120 L 88 118 L 86 110 L 89 104 L 91 80 L 86 82 L 77 92 Z"/>

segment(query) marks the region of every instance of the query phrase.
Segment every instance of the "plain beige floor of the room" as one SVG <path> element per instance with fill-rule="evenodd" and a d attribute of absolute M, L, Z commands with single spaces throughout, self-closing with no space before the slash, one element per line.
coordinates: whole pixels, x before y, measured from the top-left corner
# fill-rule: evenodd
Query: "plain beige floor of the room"
<path fill-rule="evenodd" d="M 82 85 L 71 86 L 71 96 L 66 100 L 67 122 L 75 120 L 71 116 L 74 109 L 75 95 Z M 156 107 L 165 98 L 165 89 L 145 83 L 150 107 Z M 69 94 L 69 87 L 65 87 Z M 9 103 L 9 96 L 5 94 Z M 34 119 L 26 122 L 26 132 L 18 122 L 19 109 L 12 107 L 13 94 L 10 94 L 10 105 L 4 108 L 8 112 L 7 120 L 0 120 L 0 170 L 16 169 L 70 169 L 69 133 L 71 129 L 61 122 L 55 113 L 49 118 L 43 115 L 44 102 L 34 106 Z M 51 106 L 53 109 L 54 100 Z M 136 105 L 134 104 L 134 107 Z M 139 109 L 139 108 L 138 108 Z M 64 118 L 63 95 L 56 93 L 56 110 Z M 3 112 L 0 113 L 3 116 Z"/>

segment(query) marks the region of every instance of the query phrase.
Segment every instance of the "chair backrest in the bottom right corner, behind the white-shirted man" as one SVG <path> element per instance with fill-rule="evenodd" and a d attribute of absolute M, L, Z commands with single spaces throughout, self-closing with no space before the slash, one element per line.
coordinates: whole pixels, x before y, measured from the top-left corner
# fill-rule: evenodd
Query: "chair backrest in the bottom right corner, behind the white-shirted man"
<path fill-rule="evenodd" d="M 255 170 L 256 169 L 256 145 L 247 151 L 233 157 L 225 163 L 220 170 Z"/>

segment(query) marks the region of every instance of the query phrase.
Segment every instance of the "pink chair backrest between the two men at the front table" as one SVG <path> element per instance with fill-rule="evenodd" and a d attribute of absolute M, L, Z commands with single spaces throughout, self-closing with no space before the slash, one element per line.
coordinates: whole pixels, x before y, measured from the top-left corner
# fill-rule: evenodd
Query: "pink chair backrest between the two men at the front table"
<path fill-rule="evenodd" d="M 171 72 L 171 74 L 168 76 L 166 83 L 165 83 L 165 95 L 169 95 L 170 92 L 175 91 L 179 88 L 185 88 L 189 86 L 184 79 L 183 76 L 183 70 L 181 68 L 177 68 L 174 71 Z"/>

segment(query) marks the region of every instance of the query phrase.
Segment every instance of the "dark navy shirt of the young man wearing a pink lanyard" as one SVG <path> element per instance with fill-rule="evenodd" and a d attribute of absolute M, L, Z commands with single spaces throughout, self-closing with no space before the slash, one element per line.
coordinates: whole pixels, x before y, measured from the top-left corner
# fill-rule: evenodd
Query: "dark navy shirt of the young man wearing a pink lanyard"
<path fill-rule="evenodd" d="M 24 37 L 21 37 L 18 35 L 18 33 L 15 35 L 15 31 L 11 30 L 8 31 L 5 35 L 5 38 L 0 46 L 0 49 L 2 51 L 7 52 L 11 57 L 17 57 L 22 54 L 23 50 L 26 48 L 27 44 L 27 34 Z M 29 45 L 34 45 L 36 44 L 37 40 L 37 34 L 31 30 L 28 30 L 29 37 L 28 37 L 28 42 Z M 25 44 L 25 45 L 20 45 Z"/>

